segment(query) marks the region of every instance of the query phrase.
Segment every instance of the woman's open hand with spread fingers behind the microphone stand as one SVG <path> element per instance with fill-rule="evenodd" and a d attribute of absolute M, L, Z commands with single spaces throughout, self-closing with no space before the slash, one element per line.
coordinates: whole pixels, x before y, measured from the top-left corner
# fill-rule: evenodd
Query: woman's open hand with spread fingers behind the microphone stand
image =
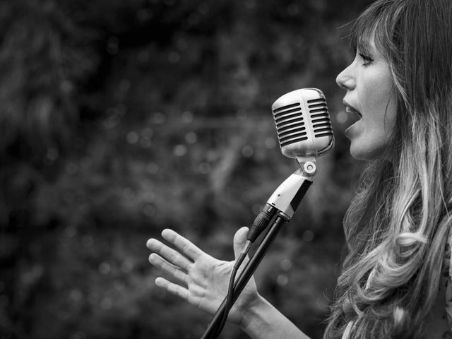
<path fill-rule="evenodd" d="M 236 259 L 244 247 L 247 232 L 248 228 L 242 227 L 234 235 Z M 149 261 L 169 273 L 177 283 L 159 277 L 155 280 L 155 285 L 215 314 L 225 299 L 234 261 L 220 261 L 209 256 L 173 230 L 163 230 L 162 237 L 172 243 L 177 251 L 157 239 L 149 239 L 146 246 L 155 252 L 150 254 Z M 232 307 L 228 320 L 240 326 L 246 311 L 258 299 L 256 283 L 251 278 Z"/>

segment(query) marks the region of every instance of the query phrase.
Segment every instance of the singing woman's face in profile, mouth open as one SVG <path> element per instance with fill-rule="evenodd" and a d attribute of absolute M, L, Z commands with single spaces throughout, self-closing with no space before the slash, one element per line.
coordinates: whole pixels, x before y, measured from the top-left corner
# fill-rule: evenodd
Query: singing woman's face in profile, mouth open
<path fill-rule="evenodd" d="M 369 55 L 357 50 L 352 64 L 336 78 L 347 91 L 344 105 L 358 119 L 346 131 L 350 153 L 361 160 L 383 155 L 396 124 L 397 102 L 388 63 L 372 39 Z"/>

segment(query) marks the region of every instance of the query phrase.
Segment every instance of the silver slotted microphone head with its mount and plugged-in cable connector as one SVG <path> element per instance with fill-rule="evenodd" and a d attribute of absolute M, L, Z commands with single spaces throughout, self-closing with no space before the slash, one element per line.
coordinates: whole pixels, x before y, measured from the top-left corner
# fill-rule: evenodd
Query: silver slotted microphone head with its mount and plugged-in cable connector
<path fill-rule="evenodd" d="M 279 215 L 292 219 L 316 174 L 316 157 L 331 150 L 333 129 L 321 90 L 303 88 L 286 93 L 272 105 L 281 151 L 297 159 L 300 168 L 278 186 L 253 222 L 248 234 L 251 242 Z"/>

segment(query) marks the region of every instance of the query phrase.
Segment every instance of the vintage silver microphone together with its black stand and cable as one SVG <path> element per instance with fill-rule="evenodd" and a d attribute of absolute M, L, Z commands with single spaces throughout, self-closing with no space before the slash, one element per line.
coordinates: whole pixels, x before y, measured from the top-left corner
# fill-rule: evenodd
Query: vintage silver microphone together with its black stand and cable
<path fill-rule="evenodd" d="M 304 88 L 286 93 L 273 103 L 272 111 L 281 151 L 283 155 L 295 158 L 300 167 L 278 186 L 250 227 L 244 250 L 234 264 L 227 296 L 202 339 L 213 339 L 220 335 L 232 305 L 278 235 L 281 225 L 292 219 L 311 186 L 312 177 L 316 174 L 316 157 L 328 152 L 334 145 L 328 107 L 321 90 Z M 235 281 L 235 274 L 251 244 L 269 226 L 261 244 Z"/>

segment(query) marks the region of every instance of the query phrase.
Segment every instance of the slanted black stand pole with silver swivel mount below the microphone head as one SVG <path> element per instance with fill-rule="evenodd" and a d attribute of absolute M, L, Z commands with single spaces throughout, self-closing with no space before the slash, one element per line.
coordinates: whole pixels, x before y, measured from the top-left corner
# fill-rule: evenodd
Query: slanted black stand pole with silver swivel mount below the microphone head
<path fill-rule="evenodd" d="M 230 307 L 232 307 L 234 302 L 237 301 L 237 298 L 244 290 L 246 283 L 248 283 L 257 266 L 261 263 L 263 256 L 265 256 L 268 248 L 273 243 L 273 240 L 277 237 L 283 222 L 290 221 L 292 215 L 295 213 L 295 210 L 297 210 L 299 203 L 302 201 L 304 194 L 306 194 L 309 186 L 312 184 L 310 177 L 314 176 L 316 173 L 315 160 L 303 163 L 300 162 L 300 165 L 302 165 L 302 168 L 298 169 L 294 174 L 288 177 L 268 199 L 267 204 L 274 206 L 278 212 L 274 218 L 268 220 L 270 229 L 258 245 L 254 255 L 250 258 L 249 262 L 246 263 L 242 273 L 240 273 L 239 277 L 234 282 L 232 304 Z M 226 309 L 226 304 L 227 298 L 225 298 L 220 307 L 218 307 L 212 321 L 210 321 L 208 328 L 204 332 L 201 339 L 216 338 L 215 332 L 222 321 L 223 312 L 230 311 L 230 309 Z M 220 335 L 220 333 L 218 333 L 218 335 Z"/>

